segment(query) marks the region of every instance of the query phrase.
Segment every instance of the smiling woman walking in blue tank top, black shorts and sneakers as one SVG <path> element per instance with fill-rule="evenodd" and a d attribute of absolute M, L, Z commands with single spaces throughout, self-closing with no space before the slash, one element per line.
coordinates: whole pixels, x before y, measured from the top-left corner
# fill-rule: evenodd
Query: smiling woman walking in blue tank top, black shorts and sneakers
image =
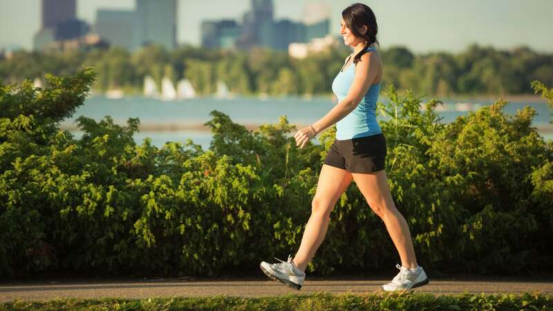
<path fill-rule="evenodd" d="M 375 49 L 378 43 L 376 18 L 368 6 L 355 3 L 342 13 L 340 33 L 353 48 L 344 66 L 332 82 L 339 103 L 317 122 L 295 135 L 303 148 L 317 133 L 336 123 L 336 140 L 330 147 L 312 200 L 311 216 L 299 250 L 288 261 L 261 262 L 261 270 L 271 279 L 299 290 L 306 267 L 321 245 L 328 229 L 330 212 L 352 180 L 368 205 L 386 225 L 400 254 L 400 272 L 386 291 L 410 290 L 429 283 L 424 269 L 417 264 L 411 234 L 405 218 L 395 208 L 384 171 L 386 140 L 376 121 L 376 102 L 382 81 L 382 62 Z"/>

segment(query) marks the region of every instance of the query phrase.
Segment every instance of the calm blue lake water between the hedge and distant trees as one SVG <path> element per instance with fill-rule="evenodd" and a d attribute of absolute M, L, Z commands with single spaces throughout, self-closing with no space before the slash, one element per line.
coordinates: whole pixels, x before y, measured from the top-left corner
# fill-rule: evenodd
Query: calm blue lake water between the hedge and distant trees
<path fill-rule="evenodd" d="M 489 105 L 492 101 L 459 101 L 443 100 L 445 103 L 439 111 L 442 122 L 451 122 L 459 115 L 466 115 L 467 111 L 474 111 L 480 106 Z M 103 96 L 89 97 L 83 106 L 79 107 L 73 117 L 60 124 L 68 129 L 76 138 L 82 135 L 75 126 L 75 119 L 80 115 L 90 117 L 96 121 L 110 115 L 117 124 L 126 124 L 130 117 L 140 119 L 141 131 L 135 133 L 137 143 L 144 138 L 151 138 L 152 143 L 161 147 L 165 142 L 185 142 L 191 139 L 204 149 L 209 147 L 212 135 L 203 124 L 212 119 L 209 112 L 217 110 L 229 115 L 233 122 L 243 125 L 259 125 L 277 123 L 279 117 L 285 115 L 290 124 L 308 125 L 326 115 L 335 102 L 328 97 L 315 97 L 306 100 L 298 97 L 271 98 L 259 100 L 256 98 L 235 98 L 232 100 L 218 100 L 215 98 L 200 98 L 165 102 L 145 97 L 124 97 L 109 99 Z M 553 139 L 553 130 L 550 127 L 550 110 L 545 102 L 512 102 L 504 109 L 505 113 L 513 114 L 524 106 L 536 109 L 534 126 L 541 129 L 541 135 Z M 460 111 L 458 111 L 460 110 Z M 315 141 L 317 143 L 317 141 Z"/>

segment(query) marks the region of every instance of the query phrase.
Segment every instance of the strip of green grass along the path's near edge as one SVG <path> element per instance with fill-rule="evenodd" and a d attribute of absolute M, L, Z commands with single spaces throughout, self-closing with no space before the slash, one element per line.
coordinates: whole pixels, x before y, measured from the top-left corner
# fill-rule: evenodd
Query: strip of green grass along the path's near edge
<path fill-rule="evenodd" d="M 553 296 L 523 294 L 435 295 L 421 292 L 364 295 L 317 293 L 263 298 L 213 296 L 158 299 L 53 299 L 13 301 L 4 310 L 553 310 Z"/>

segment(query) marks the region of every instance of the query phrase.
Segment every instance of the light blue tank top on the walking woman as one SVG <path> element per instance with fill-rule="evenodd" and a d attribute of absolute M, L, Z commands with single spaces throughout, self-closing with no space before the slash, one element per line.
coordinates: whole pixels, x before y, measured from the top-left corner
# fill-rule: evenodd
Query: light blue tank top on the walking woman
<path fill-rule="evenodd" d="M 373 47 L 366 49 L 368 52 L 375 50 Z M 350 63 L 348 68 L 338 73 L 332 82 L 332 92 L 338 97 L 338 102 L 348 95 L 353 77 L 355 64 Z M 376 121 L 376 101 L 380 92 L 380 83 L 371 85 L 367 93 L 357 107 L 342 120 L 336 123 L 336 139 L 350 140 L 382 133 Z"/>

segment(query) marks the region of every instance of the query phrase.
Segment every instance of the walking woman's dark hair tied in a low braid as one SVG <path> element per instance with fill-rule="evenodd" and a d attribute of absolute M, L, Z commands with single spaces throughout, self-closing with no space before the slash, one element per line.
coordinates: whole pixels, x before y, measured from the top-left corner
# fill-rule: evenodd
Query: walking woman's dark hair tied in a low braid
<path fill-rule="evenodd" d="M 362 55 L 366 53 L 368 46 L 373 43 L 378 44 L 378 40 L 376 39 L 378 26 L 375 13 L 365 4 L 355 3 L 343 10 L 341 17 L 344 18 L 346 26 L 348 26 L 355 37 L 365 39 L 365 48 L 353 58 L 353 64 L 357 64 L 361 60 Z M 363 26 L 367 26 L 367 31 L 364 34 L 361 33 Z"/>

